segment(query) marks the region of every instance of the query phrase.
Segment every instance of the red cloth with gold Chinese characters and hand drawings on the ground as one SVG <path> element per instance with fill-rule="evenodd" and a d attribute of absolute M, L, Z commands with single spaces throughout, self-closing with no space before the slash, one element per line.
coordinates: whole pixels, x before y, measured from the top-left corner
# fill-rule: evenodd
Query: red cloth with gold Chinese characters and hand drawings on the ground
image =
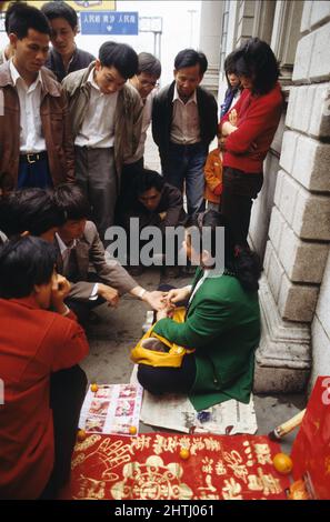
<path fill-rule="evenodd" d="M 70 491 L 61 498 L 281 500 L 289 479 L 272 465 L 279 451 L 256 435 L 92 434 L 76 445 Z"/>

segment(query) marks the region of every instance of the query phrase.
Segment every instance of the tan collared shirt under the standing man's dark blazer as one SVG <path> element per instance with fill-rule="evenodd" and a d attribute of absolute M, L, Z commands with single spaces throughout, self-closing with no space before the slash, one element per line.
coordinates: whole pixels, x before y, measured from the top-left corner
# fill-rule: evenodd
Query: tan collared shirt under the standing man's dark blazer
<path fill-rule="evenodd" d="M 173 116 L 170 140 L 173 143 L 188 145 L 200 141 L 200 121 L 196 91 L 187 103 L 179 97 L 177 84 L 173 94 Z"/>

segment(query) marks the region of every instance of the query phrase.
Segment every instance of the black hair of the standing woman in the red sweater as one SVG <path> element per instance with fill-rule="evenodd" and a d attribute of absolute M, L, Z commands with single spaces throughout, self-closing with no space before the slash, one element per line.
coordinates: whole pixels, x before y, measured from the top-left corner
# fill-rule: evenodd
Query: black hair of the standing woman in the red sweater
<path fill-rule="evenodd" d="M 234 56 L 238 76 L 253 78 L 253 92 L 267 94 L 279 78 L 279 66 L 269 44 L 259 38 L 250 38 Z"/>

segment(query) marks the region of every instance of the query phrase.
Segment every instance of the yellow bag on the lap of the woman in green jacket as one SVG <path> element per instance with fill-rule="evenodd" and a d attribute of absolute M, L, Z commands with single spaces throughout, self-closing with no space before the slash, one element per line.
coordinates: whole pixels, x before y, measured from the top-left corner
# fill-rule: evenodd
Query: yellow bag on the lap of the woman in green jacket
<path fill-rule="evenodd" d="M 173 313 L 173 321 L 184 322 L 186 309 L 178 308 Z M 138 344 L 131 351 L 131 360 L 137 364 L 148 364 L 150 367 L 180 368 L 186 353 L 192 353 L 194 350 L 188 350 L 178 347 L 173 342 L 158 335 L 153 332 L 154 324 L 140 339 Z M 146 345 L 150 348 L 144 348 Z M 151 349 L 153 348 L 153 350 Z M 166 349 L 169 349 L 164 351 Z"/>

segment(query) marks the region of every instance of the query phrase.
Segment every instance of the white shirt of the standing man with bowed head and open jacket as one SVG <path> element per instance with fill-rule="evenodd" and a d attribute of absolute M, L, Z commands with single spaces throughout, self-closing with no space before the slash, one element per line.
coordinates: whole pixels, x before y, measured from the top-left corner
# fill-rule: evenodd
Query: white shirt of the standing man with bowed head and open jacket
<path fill-rule="evenodd" d="M 74 144 L 90 149 L 107 149 L 113 147 L 114 143 L 118 91 L 112 94 L 103 94 L 94 81 L 94 70 L 93 68 L 90 71 L 87 80 L 91 84 L 90 100 Z"/>

